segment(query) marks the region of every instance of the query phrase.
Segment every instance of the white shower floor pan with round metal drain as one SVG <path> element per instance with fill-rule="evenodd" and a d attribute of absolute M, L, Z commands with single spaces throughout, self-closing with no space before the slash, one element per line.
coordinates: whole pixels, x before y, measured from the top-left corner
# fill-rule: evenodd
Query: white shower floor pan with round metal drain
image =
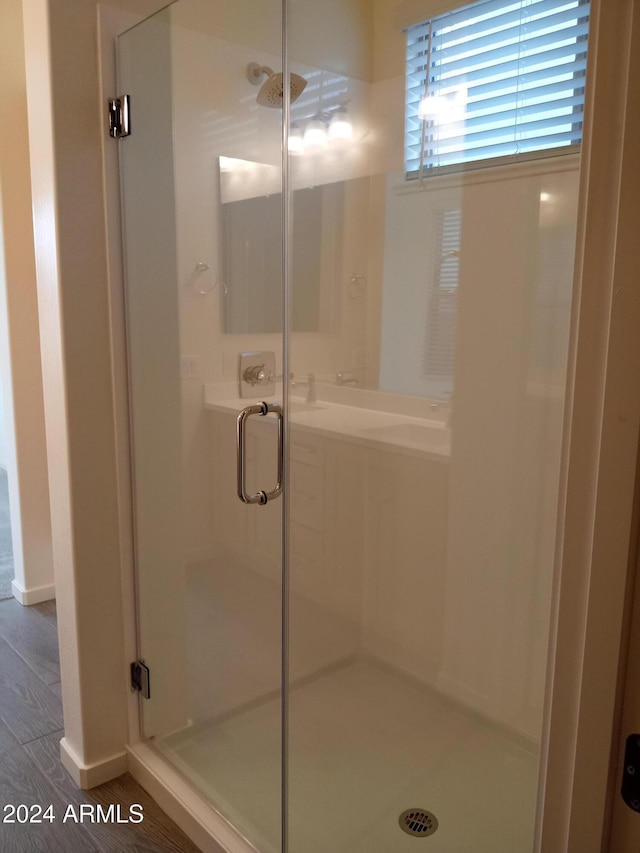
<path fill-rule="evenodd" d="M 156 745 L 261 853 L 280 833 L 280 705 L 265 701 Z M 404 676 L 356 662 L 293 690 L 291 853 L 529 853 L 538 757 Z M 435 815 L 418 840 L 398 818 Z"/>

